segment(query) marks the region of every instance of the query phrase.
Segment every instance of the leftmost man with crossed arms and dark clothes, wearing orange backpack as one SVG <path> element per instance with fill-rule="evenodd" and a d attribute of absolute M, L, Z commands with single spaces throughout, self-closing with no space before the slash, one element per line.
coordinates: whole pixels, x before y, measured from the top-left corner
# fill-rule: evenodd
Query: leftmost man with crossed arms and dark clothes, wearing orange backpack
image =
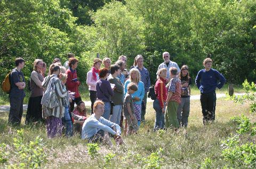
<path fill-rule="evenodd" d="M 25 66 L 23 58 L 19 57 L 15 59 L 15 66 L 16 68 L 10 74 L 11 91 L 9 95 L 10 113 L 8 122 L 20 125 L 23 113 L 23 100 L 25 97 L 25 91 L 23 89 L 26 87 L 25 78 L 21 72 L 21 69 Z"/>

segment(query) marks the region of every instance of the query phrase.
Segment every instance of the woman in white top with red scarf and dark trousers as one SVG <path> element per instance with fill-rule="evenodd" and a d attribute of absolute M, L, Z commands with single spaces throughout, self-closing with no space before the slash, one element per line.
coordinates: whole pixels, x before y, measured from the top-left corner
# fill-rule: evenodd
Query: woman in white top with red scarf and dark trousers
<path fill-rule="evenodd" d="M 93 114 L 93 104 L 97 99 L 97 91 L 96 91 L 96 82 L 100 79 L 99 78 L 99 70 L 102 61 L 99 58 L 95 58 L 93 60 L 93 67 L 87 73 L 86 84 L 89 86 L 90 91 L 90 100 L 91 100 L 91 114 Z"/>

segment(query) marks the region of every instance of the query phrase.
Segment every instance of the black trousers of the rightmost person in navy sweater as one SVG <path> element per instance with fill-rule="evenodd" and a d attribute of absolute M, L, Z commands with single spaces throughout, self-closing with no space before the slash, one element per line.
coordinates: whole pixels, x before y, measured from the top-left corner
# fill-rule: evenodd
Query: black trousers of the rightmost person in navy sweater
<path fill-rule="evenodd" d="M 203 123 L 215 120 L 216 93 L 215 91 L 200 95 L 203 113 Z"/>

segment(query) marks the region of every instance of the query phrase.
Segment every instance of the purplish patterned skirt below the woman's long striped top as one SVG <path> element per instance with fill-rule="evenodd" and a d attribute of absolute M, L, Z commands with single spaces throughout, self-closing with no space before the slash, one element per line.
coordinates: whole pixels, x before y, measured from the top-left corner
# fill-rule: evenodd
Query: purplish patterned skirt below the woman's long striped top
<path fill-rule="evenodd" d="M 49 116 L 46 118 L 46 130 L 48 138 L 54 138 L 61 136 L 62 121 L 61 118 L 55 116 Z"/>

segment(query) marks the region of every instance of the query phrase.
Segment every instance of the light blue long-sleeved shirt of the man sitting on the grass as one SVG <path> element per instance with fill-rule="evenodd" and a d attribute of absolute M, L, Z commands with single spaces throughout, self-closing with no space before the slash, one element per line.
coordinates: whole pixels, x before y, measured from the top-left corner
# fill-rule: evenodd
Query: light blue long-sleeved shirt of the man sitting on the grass
<path fill-rule="evenodd" d="M 116 132 L 111 129 L 111 126 L 116 127 Z M 88 139 L 96 134 L 99 130 L 107 131 L 113 135 L 121 135 L 121 128 L 118 124 L 110 122 L 103 117 L 99 120 L 96 119 L 95 114 L 92 114 L 88 119 L 85 120 L 82 127 L 82 139 Z"/>

